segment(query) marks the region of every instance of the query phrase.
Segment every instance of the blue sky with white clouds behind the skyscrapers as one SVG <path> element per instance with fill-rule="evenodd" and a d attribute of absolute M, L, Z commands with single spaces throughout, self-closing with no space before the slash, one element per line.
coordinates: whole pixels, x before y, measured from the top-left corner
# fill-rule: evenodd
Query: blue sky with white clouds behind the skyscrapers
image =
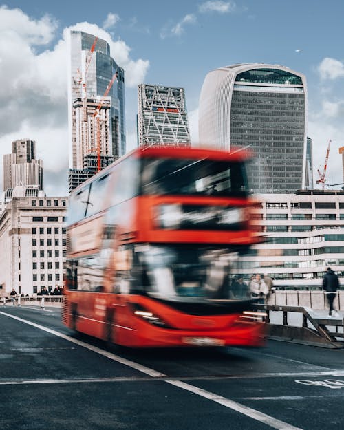
<path fill-rule="evenodd" d="M 343 17 L 341 0 L 6 1 L 0 7 L 0 155 L 10 153 L 14 139 L 35 139 L 45 191 L 67 193 L 65 39 L 72 27 L 106 32 L 112 56 L 125 68 L 129 149 L 136 144 L 138 83 L 184 87 L 196 141 L 208 72 L 233 63 L 281 64 L 307 78 L 314 170 L 322 169 L 332 139 L 327 180 L 343 182 Z"/>

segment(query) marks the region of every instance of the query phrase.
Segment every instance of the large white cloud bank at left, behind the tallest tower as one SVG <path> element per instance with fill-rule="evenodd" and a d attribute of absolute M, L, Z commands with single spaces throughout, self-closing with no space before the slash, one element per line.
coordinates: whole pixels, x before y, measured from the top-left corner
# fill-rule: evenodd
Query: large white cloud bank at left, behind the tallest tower
<path fill-rule="evenodd" d="M 108 41 L 111 56 L 125 69 L 127 88 L 144 81 L 149 61 L 134 60 L 125 41 L 114 41 L 108 32 L 90 23 L 76 24 L 72 28 Z M 70 29 L 66 28 L 63 36 L 50 47 L 56 38 L 56 23 L 52 17 L 34 20 L 19 9 L 0 7 L 0 160 L 3 154 L 12 151 L 12 140 L 36 140 L 37 157 L 42 158 L 44 164 L 45 189 L 51 192 L 55 189 L 58 193 L 67 192 L 67 39 Z M 37 45 L 40 45 L 39 53 L 34 49 Z M 2 167 L 0 161 L 0 178 Z M 49 184 L 49 178 L 56 184 Z M 62 178 L 61 184 L 58 178 Z"/>

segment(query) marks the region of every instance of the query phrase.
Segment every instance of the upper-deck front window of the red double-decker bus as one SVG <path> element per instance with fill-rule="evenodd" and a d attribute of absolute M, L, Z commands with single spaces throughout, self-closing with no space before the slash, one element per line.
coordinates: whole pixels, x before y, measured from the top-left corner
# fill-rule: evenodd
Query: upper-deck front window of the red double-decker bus
<path fill-rule="evenodd" d="M 144 158 L 141 193 L 144 195 L 217 195 L 246 197 L 244 164 L 204 158 Z"/>

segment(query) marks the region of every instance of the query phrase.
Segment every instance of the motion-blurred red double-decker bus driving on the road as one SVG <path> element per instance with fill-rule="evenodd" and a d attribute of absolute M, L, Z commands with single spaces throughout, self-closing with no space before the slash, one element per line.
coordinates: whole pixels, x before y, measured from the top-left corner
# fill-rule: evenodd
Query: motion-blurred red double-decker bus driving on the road
<path fill-rule="evenodd" d="M 129 347 L 261 345 L 230 289 L 250 228 L 244 151 L 148 147 L 69 200 L 63 322 Z"/>

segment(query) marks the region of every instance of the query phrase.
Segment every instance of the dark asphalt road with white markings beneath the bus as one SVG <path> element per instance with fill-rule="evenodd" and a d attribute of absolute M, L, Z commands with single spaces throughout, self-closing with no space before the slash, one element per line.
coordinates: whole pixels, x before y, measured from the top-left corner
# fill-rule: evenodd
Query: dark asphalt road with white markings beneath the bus
<path fill-rule="evenodd" d="M 0 429 L 344 428 L 344 350 L 127 350 L 0 308 Z"/>

